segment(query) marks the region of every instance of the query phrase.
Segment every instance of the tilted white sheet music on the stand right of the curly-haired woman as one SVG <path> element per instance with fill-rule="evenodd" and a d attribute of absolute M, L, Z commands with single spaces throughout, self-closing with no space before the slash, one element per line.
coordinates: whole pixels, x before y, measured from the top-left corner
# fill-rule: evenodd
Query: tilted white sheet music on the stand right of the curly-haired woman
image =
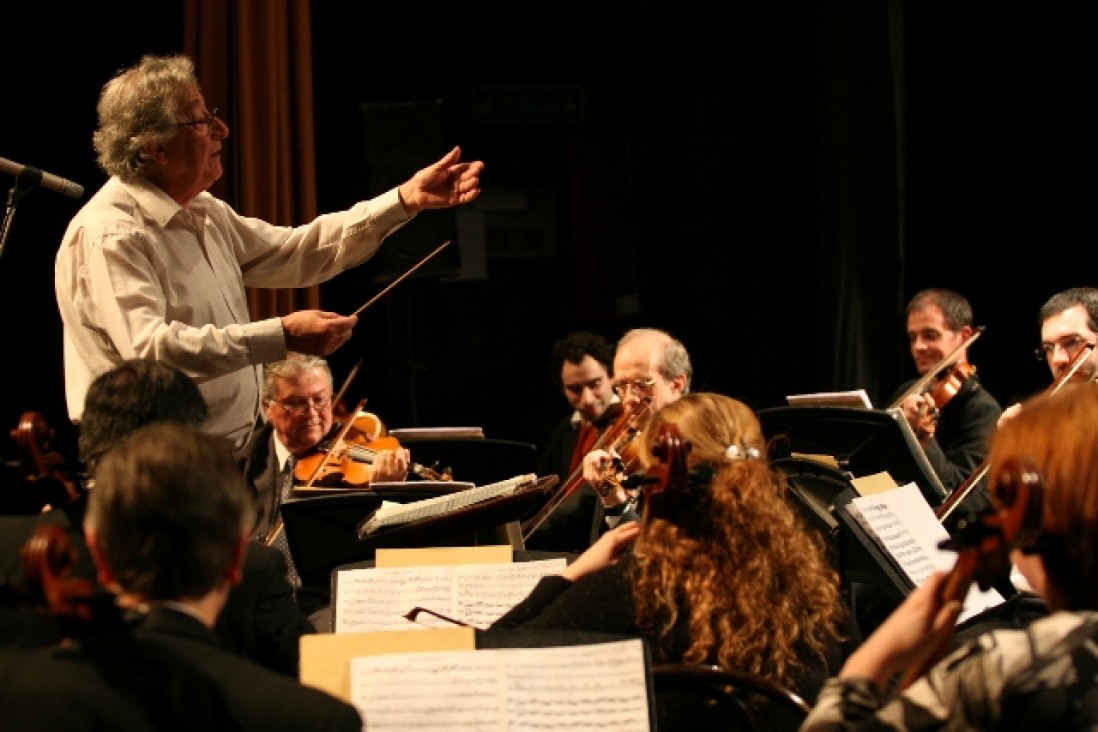
<path fill-rule="evenodd" d="M 849 507 L 850 513 L 896 560 L 916 586 L 935 571 L 950 571 L 956 562 L 956 552 L 939 548 L 950 534 L 915 483 L 859 496 L 850 502 Z M 957 622 L 1002 601 L 1002 596 L 994 588 L 983 592 L 974 583 Z"/>

